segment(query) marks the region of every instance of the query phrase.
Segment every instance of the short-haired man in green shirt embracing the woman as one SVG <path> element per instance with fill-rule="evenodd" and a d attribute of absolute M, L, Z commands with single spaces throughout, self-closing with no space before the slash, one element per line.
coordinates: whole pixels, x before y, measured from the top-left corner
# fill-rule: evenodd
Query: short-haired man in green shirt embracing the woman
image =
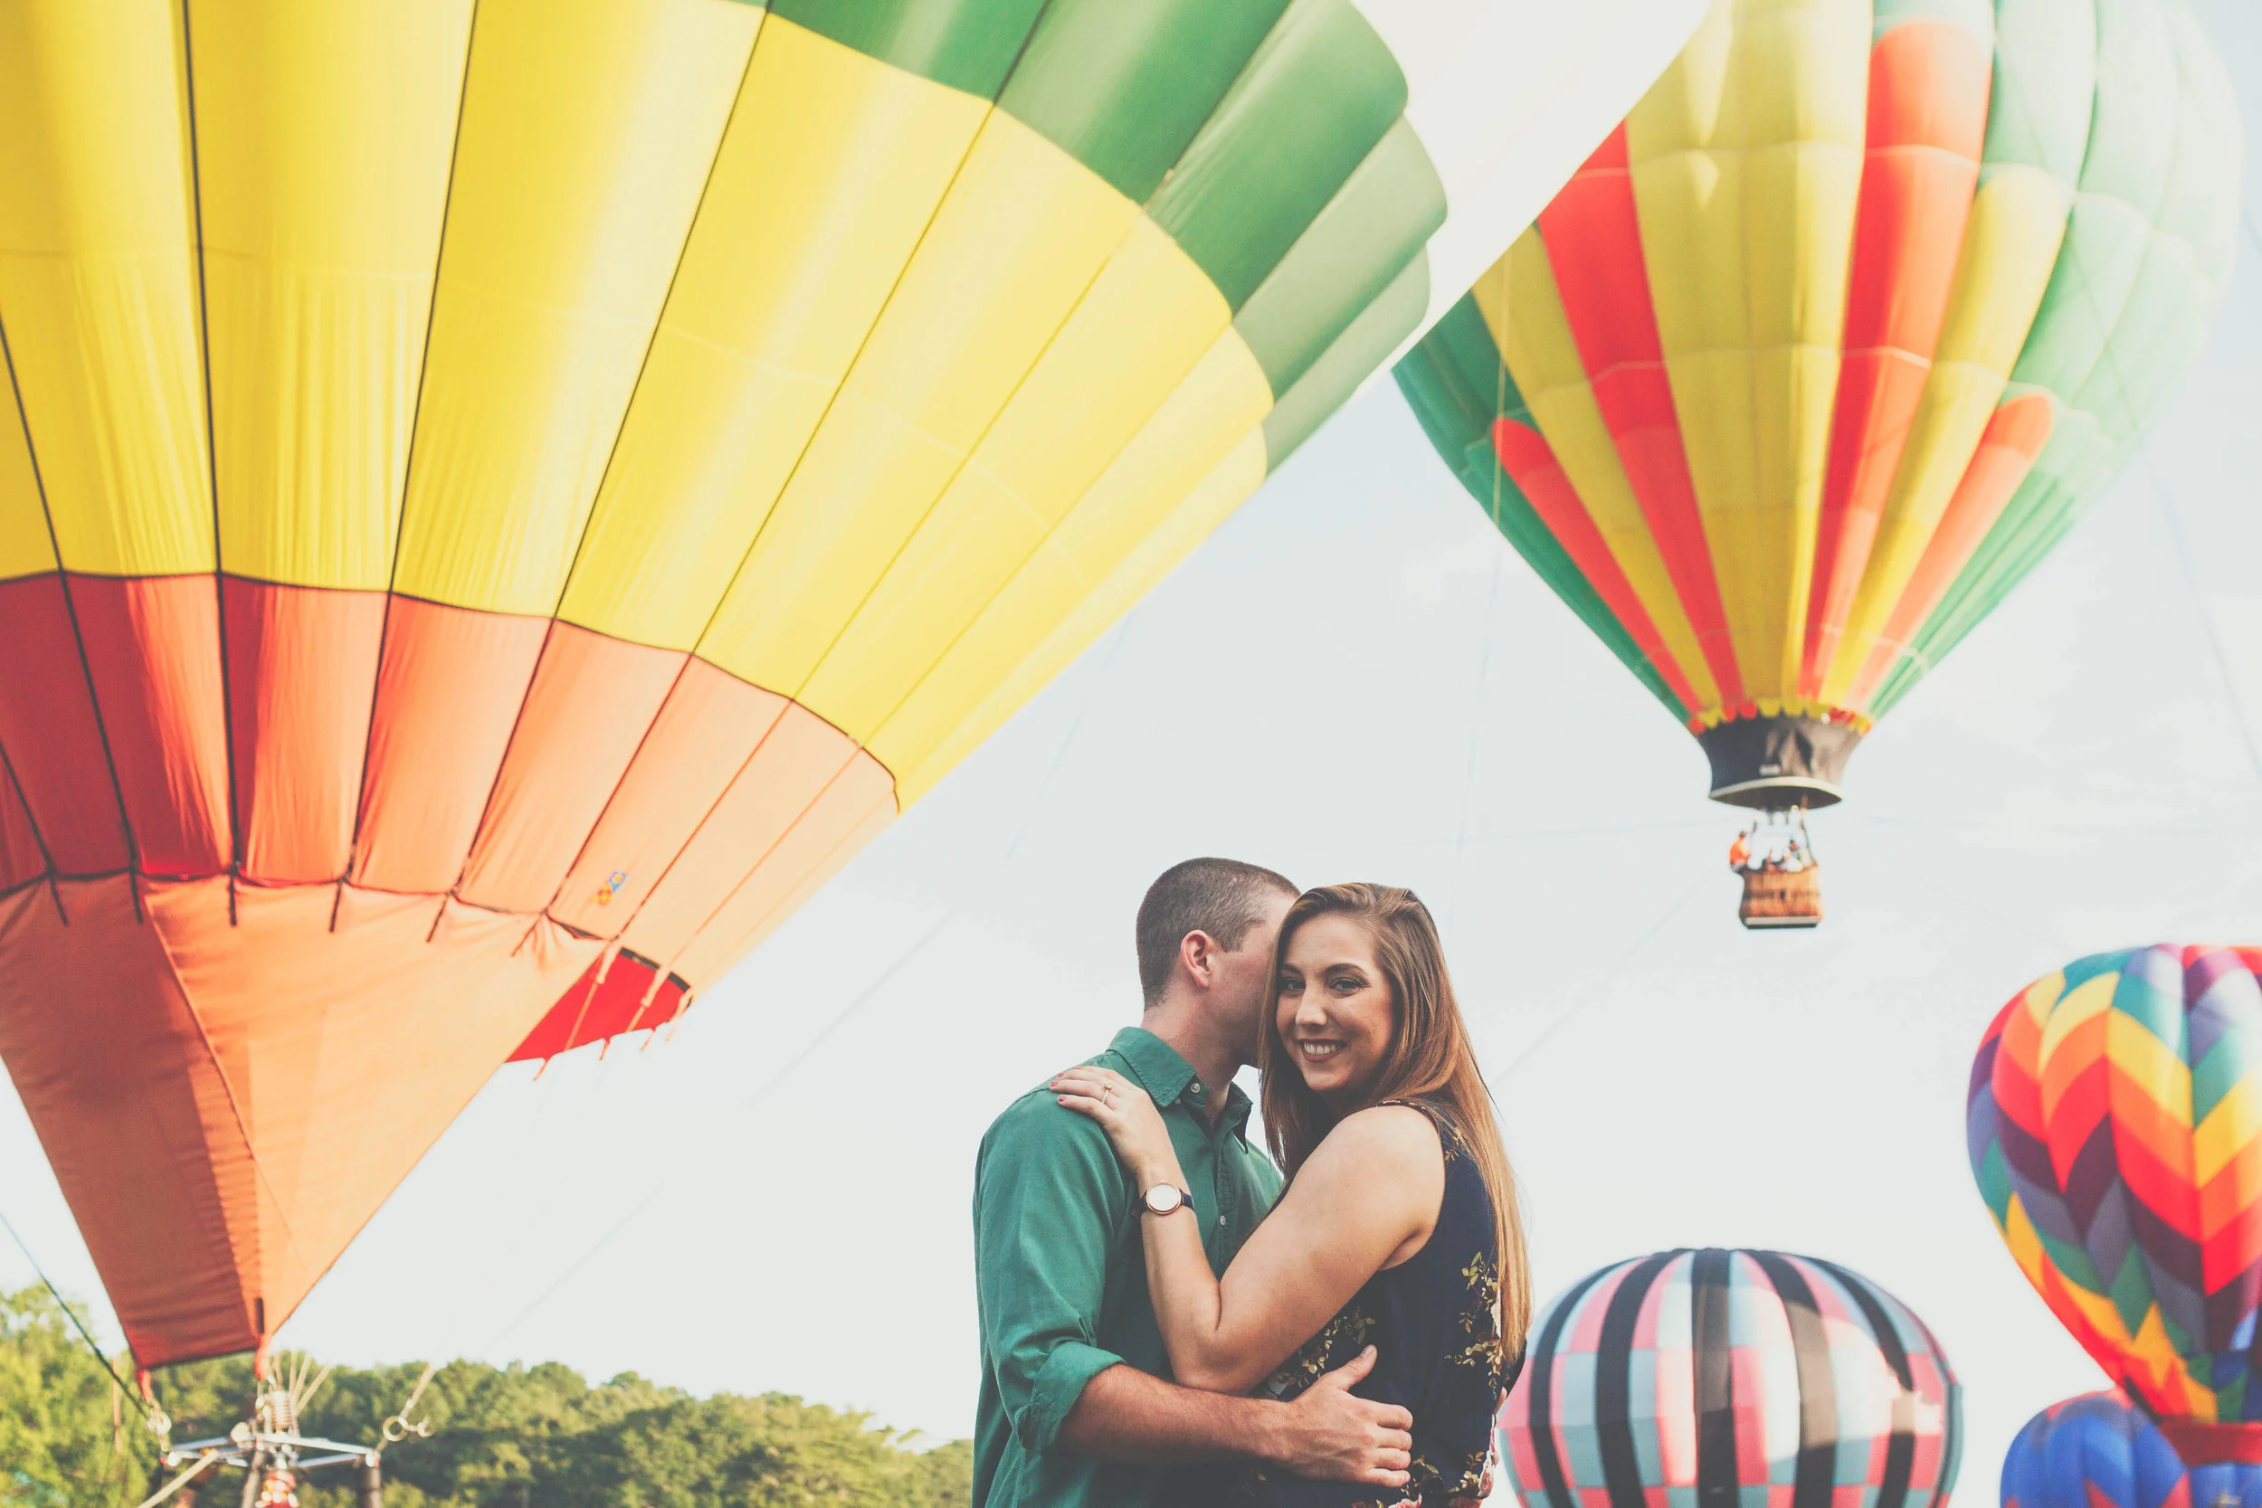
<path fill-rule="evenodd" d="M 1167 1191 L 1133 1189 L 1106 1133 L 1047 1090 L 1007 1106 L 982 1137 L 975 1508 L 1169 1508 L 1188 1499 L 1183 1467 L 1233 1456 L 1332 1481 L 1405 1467 L 1407 1411 L 1350 1393 L 1373 1352 L 1287 1404 L 1194 1393 L 1169 1381 L 1147 1300 L 1140 1221 L 1199 1219 L 1224 1273 L 1280 1194 L 1280 1173 L 1249 1144 L 1251 1106 L 1233 1074 L 1258 1056 L 1274 941 L 1294 900 L 1269 868 L 1188 859 L 1138 909 L 1147 1008 L 1090 1060 L 1163 1110 L 1192 1214 L 1167 1210 Z"/>

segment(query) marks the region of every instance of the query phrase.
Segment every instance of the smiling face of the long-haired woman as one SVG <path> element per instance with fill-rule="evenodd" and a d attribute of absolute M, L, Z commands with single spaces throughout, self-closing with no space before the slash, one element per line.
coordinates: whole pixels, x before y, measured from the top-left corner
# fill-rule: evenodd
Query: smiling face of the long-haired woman
<path fill-rule="evenodd" d="M 1274 1026 L 1314 1094 L 1337 1110 L 1364 1103 L 1398 1026 L 1375 938 L 1350 916 L 1314 916 L 1280 961 Z"/>

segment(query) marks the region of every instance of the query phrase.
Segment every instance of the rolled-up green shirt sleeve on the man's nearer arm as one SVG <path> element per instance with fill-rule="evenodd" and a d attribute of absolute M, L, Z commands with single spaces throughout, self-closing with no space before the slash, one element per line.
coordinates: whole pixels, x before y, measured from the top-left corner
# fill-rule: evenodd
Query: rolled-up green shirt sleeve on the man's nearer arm
<path fill-rule="evenodd" d="M 1043 1097 L 1011 1106 L 975 1164 L 982 1350 L 1013 1438 L 1052 1449 L 1083 1386 L 1120 1366 L 1099 1345 L 1108 1248 L 1129 1210 L 1106 1133 Z"/>

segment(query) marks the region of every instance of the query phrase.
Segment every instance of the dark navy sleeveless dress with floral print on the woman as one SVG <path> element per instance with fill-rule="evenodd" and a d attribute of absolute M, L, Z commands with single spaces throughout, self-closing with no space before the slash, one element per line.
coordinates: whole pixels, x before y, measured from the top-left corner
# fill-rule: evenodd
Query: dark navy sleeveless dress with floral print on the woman
<path fill-rule="evenodd" d="M 1452 1117 L 1418 1099 L 1387 1103 L 1421 1110 L 1436 1126 L 1445 1151 L 1436 1230 L 1418 1253 L 1369 1277 L 1258 1393 L 1296 1397 L 1321 1372 L 1373 1345 L 1375 1370 L 1353 1390 L 1414 1413 L 1414 1479 L 1405 1488 L 1364 1488 L 1303 1481 L 1278 1467 L 1244 1467 L 1228 1483 L 1226 1503 L 1475 1508 L 1493 1490 L 1493 1418 L 1511 1381 L 1495 1318 L 1500 1239 L 1493 1201 Z"/>

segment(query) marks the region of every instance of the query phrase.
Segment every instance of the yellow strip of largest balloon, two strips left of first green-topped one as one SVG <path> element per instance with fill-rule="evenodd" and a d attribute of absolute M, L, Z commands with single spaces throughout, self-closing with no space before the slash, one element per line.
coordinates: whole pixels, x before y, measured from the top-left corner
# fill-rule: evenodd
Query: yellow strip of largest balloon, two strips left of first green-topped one
<path fill-rule="evenodd" d="M 197 0 L 222 567 L 382 590 L 470 0 Z"/>

